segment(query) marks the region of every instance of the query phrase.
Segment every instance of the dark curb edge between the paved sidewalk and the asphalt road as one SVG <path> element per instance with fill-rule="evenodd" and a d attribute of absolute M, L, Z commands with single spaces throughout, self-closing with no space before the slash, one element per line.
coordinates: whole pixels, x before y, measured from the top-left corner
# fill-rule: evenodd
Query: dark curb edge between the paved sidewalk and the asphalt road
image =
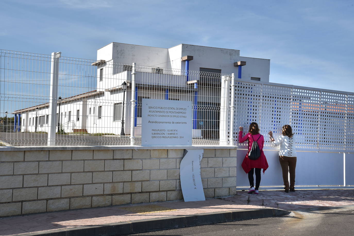
<path fill-rule="evenodd" d="M 290 211 L 262 208 L 251 210 L 223 211 L 200 213 L 194 215 L 180 215 L 155 219 L 134 220 L 120 223 L 97 226 L 83 226 L 78 228 L 58 229 L 46 232 L 21 234 L 23 236 L 114 236 L 138 234 L 149 231 L 185 228 L 198 225 L 225 223 L 229 221 L 266 218 L 290 214 Z"/>

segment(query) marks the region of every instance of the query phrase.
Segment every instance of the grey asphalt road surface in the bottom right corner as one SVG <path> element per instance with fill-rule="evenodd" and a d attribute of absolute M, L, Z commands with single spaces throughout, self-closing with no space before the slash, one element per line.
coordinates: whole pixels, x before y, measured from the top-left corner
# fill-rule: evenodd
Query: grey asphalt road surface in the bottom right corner
<path fill-rule="evenodd" d="M 293 211 L 281 217 L 261 218 L 194 226 L 189 228 L 145 232 L 132 236 L 337 236 L 353 235 L 354 206 L 313 208 Z"/>

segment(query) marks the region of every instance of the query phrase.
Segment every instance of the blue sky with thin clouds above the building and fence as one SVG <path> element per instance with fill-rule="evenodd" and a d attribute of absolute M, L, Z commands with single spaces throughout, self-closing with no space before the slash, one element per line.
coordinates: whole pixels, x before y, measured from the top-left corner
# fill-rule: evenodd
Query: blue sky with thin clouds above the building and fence
<path fill-rule="evenodd" d="M 354 2 L 1 1 L 0 48 L 96 59 L 110 42 L 271 59 L 270 82 L 354 92 Z"/>

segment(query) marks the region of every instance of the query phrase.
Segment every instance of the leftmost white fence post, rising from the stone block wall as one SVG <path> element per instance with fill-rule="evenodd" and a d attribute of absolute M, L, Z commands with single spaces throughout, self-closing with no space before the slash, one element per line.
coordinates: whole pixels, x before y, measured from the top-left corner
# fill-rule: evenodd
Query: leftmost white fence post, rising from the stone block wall
<path fill-rule="evenodd" d="M 49 121 L 48 121 L 47 145 L 55 145 L 55 131 L 56 131 L 55 117 L 57 114 L 60 57 L 61 57 L 61 52 L 52 53 L 51 68 L 50 68 L 50 97 L 49 97 Z"/>

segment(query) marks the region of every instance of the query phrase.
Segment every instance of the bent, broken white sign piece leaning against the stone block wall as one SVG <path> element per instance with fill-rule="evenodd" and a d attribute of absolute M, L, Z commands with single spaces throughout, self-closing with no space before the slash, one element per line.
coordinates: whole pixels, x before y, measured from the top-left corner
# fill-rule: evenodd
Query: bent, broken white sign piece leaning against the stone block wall
<path fill-rule="evenodd" d="M 185 202 L 205 201 L 204 189 L 201 183 L 200 162 L 203 149 L 185 149 L 179 166 L 181 188 Z"/>

